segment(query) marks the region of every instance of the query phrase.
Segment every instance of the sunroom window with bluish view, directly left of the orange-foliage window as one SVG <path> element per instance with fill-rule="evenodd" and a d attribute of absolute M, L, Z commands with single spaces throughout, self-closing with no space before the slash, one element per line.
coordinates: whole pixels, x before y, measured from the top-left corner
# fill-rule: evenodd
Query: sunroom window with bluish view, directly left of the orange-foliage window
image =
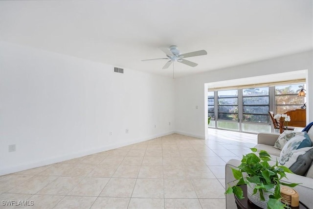
<path fill-rule="evenodd" d="M 269 123 L 269 88 L 243 89 L 243 121 Z"/>

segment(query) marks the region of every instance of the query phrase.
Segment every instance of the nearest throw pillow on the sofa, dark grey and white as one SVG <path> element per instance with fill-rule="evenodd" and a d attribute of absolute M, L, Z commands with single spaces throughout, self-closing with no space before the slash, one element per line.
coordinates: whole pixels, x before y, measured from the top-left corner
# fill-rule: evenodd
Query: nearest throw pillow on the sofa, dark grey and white
<path fill-rule="evenodd" d="M 288 167 L 293 173 L 304 176 L 313 161 L 313 147 L 293 149 L 287 153 L 281 152 L 279 164 Z M 308 174 L 307 174 L 308 175 Z M 311 174 L 309 174 L 311 175 Z"/>

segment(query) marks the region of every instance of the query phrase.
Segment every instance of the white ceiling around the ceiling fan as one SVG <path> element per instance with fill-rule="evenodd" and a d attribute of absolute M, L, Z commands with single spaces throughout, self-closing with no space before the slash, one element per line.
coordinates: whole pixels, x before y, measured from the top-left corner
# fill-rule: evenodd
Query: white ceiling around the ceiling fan
<path fill-rule="evenodd" d="M 0 37 L 171 77 L 158 47 L 177 45 L 195 68 L 175 77 L 312 50 L 312 0 L 0 1 Z"/>

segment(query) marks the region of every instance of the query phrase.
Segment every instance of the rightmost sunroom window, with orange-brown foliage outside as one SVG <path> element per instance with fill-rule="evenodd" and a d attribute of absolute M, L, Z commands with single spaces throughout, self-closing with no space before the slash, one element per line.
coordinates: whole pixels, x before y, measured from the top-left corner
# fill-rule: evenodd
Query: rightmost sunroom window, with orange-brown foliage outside
<path fill-rule="evenodd" d="M 297 96 L 301 88 L 304 88 L 304 84 L 275 86 L 275 114 L 299 109 L 305 102 L 305 97 Z"/>

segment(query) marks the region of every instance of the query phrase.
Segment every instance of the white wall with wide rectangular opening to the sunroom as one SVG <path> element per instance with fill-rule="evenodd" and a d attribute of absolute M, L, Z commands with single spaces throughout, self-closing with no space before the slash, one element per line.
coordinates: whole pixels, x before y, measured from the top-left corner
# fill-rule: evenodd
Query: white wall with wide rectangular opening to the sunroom
<path fill-rule="evenodd" d="M 175 121 L 177 133 L 207 139 L 207 88 L 205 84 L 260 76 L 259 82 L 267 82 L 264 75 L 306 71 L 307 79 L 307 122 L 313 121 L 313 52 L 303 52 L 265 61 L 208 71 L 175 79 Z M 286 76 L 284 76 L 286 78 Z M 255 80 L 255 78 L 253 79 Z M 225 86 L 225 85 L 224 85 Z M 215 85 L 216 87 L 216 85 Z M 199 108 L 196 109 L 196 106 Z"/>

